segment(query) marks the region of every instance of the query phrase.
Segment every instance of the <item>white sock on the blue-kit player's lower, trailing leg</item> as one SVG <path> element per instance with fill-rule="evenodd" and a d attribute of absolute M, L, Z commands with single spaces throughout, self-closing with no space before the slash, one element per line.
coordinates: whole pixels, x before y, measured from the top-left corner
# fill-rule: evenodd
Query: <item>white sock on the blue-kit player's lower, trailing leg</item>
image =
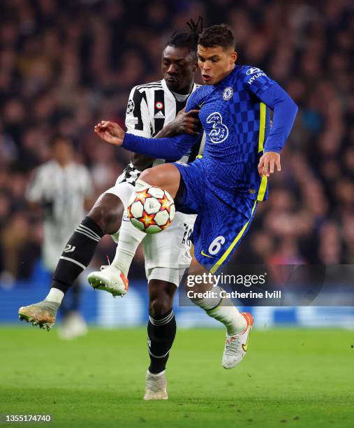
<path fill-rule="evenodd" d="M 224 297 L 220 299 L 219 295 L 221 292 L 220 287 L 212 287 L 212 291 L 217 294 L 217 298 L 202 298 L 202 299 L 191 299 L 194 304 L 204 309 L 209 317 L 220 321 L 225 325 L 228 331 L 228 336 L 234 336 L 235 334 L 241 333 L 247 327 L 247 322 L 244 316 L 237 311 L 233 301 Z"/>

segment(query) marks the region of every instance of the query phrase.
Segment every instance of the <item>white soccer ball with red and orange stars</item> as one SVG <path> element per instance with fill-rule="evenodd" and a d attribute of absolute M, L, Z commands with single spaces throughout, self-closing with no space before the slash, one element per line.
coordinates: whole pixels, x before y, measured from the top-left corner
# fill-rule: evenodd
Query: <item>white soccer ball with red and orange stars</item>
<path fill-rule="evenodd" d="M 129 219 L 137 229 L 147 234 L 157 234 L 170 226 L 176 209 L 168 192 L 151 186 L 140 192 L 133 192 L 127 211 Z"/>

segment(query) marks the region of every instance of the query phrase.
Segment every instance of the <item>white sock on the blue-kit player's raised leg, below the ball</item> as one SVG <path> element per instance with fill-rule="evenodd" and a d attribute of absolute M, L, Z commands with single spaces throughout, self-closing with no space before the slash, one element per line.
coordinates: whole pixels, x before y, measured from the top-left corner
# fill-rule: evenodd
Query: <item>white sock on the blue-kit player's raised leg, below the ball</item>
<path fill-rule="evenodd" d="M 112 266 L 128 276 L 131 262 L 140 242 L 145 238 L 145 232 L 137 229 L 130 221 L 122 221 L 119 229 L 119 240 Z"/>

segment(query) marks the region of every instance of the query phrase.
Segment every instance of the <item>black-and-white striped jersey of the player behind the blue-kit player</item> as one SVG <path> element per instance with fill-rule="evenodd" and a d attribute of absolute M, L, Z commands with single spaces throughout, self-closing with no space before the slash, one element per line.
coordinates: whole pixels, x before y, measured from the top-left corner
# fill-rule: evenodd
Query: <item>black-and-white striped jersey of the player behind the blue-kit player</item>
<path fill-rule="evenodd" d="M 192 92 L 199 86 L 195 83 Z M 190 94 L 186 97 L 173 94 L 164 79 L 133 87 L 126 107 L 126 131 L 147 138 L 156 136 L 165 124 L 175 120 L 177 113 L 186 106 L 189 96 Z M 205 138 L 201 136 L 191 153 L 182 157 L 181 161 L 193 162 L 196 156 L 201 154 L 204 143 Z M 118 182 L 135 184 L 141 171 L 163 162 L 163 159 L 133 153 L 130 164 L 124 169 Z"/>

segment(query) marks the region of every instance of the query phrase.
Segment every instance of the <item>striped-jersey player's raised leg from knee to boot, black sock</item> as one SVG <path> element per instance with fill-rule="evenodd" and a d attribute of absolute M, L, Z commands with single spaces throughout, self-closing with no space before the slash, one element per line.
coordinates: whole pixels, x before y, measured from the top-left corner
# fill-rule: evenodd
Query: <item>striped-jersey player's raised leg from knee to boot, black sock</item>
<path fill-rule="evenodd" d="M 98 198 L 64 248 L 54 272 L 49 294 L 43 301 L 22 306 L 18 311 L 20 320 L 44 326 L 48 330 L 52 328 L 64 294 L 91 262 L 102 236 L 118 231 L 124 212 L 122 200 L 127 201 L 128 196 L 124 194 L 120 199 L 115 194 L 105 193 Z M 127 287 L 123 287 L 121 294 L 125 294 L 126 290 Z"/>

